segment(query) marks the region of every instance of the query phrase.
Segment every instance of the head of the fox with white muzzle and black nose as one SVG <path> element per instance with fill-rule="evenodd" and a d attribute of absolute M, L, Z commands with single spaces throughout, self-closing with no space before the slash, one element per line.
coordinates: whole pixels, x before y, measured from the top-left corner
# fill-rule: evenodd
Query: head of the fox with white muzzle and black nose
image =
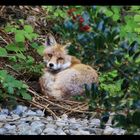
<path fill-rule="evenodd" d="M 60 45 L 51 34 L 48 34 L 44 45 L 46 48 L 43 59 L 49 71 L 64 70 L 71 66 L 72 57 L 67 54 L 67 46 L 70 43 Z"/>

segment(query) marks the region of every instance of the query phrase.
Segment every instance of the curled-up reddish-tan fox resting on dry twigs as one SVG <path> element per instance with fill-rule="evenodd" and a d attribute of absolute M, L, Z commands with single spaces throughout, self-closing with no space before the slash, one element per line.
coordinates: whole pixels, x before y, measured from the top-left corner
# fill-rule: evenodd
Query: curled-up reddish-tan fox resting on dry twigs
<path fill-rule="evenodd" d="M 83 95 L 85 84 L 98 83 L 98 73 L 91 66 L 81 63 L 68 54 L 68 46 L 58 44 L 51 34 L 45 41 L 43 60 L 45 69 L 39 78 L 42 94 L 56 100 Z"/>

